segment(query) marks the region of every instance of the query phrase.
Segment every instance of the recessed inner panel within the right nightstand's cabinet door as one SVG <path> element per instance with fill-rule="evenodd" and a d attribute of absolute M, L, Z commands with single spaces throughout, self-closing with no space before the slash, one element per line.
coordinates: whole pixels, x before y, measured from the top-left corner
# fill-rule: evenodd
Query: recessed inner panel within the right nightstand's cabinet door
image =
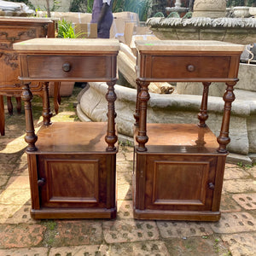
<path fill-rule="evenodd" d="M 155 161 L 153 203 L 204 206 L 208 172 L 207 162 Z"/>

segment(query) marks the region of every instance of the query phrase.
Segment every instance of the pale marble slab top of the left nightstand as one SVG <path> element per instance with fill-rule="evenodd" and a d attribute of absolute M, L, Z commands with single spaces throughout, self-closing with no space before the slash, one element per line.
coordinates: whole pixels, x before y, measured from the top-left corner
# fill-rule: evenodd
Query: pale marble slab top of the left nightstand
<path fill-rule="evenodd" d="M 14 49 L 22 51 L 118 51 L 119 40 L 102 38 L 34 38 L 14 44 Z"/>

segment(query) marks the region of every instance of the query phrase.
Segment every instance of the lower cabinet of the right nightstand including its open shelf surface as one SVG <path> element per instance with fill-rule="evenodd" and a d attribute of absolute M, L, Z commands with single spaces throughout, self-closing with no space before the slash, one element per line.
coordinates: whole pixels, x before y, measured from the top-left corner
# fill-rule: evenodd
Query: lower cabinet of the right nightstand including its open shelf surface
<path fill-rule="evenodd" d="M 135 148 L 134 218 L 218 221 L 226 154 L 217 152 L 212 131 L 197 125 L 147 128 L 148 150 Z"/>

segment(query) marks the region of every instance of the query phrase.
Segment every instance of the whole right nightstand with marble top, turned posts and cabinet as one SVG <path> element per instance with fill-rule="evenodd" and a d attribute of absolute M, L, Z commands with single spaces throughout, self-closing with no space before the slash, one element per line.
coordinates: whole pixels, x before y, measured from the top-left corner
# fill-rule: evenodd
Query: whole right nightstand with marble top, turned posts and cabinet
<path fill-rule="evenodd" d="M 134 217 L 217 221 L 233 86 L 244 46 L 214 41 L 136 41 L 136 45 Z M 150 82 L 195 81 L 204 86 L 198 125 L 147 125 Z M 206 124 L 211 82 L 227 85 L 218 138 Z"/>

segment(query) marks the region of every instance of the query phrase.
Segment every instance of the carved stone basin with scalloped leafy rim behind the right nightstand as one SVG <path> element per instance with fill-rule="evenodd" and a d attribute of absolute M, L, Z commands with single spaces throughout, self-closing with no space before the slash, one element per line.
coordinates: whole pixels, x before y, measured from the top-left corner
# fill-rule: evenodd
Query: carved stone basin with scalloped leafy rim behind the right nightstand
<path fill-rule="evenodd" d="M 234 44 L 256 42 L 256 19 L 193 17 L 150 18 L 150 30 L 161 40 L 218 40 Z"/>

